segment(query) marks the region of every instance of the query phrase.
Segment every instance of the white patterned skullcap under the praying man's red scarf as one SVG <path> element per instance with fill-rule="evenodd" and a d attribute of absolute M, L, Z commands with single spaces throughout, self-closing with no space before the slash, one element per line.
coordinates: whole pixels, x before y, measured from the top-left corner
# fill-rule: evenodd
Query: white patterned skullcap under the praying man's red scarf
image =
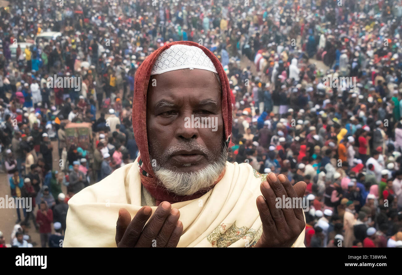
<path fill-rule="evenodd" d="M 199 47 L 173 45 L 158 56 L 151 75 L 186 68 L 203 69 L 217 73 L 211 59 Z"/>

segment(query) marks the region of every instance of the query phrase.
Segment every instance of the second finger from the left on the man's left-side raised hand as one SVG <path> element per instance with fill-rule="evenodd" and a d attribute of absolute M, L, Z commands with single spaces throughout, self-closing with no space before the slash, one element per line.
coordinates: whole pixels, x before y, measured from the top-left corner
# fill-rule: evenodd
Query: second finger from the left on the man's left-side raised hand
<path fill-rule="evenodd" d="M 150 218 L 152 209 L 149 206 L 141 208 L 137 214 L 135 214 L 133 220 L 127 226 L 123 238 L 119 242 L 119 247 L 134 247 L 141 234 L 142 228 Z"/>

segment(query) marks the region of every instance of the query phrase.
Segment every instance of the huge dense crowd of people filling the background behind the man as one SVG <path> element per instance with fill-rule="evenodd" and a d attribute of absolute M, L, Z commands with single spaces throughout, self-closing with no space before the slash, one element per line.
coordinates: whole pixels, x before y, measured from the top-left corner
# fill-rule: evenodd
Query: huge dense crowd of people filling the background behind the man
<path fill-rule="evenodd" d="M 16 208 L 0 247 L 33 246 L 31 220 L 41 246 L 62 246 L 69 198 L 137 157 L 136 69 L 182 40 L 210 49 L 228 76 L 228 161 L 307 183 L 307 247 L 402 246 L 401 1 L 60 3 L 0 12 L 1 184 L 38 205 Z M 80 90 L 49 88 L 54 75 Z M 84 144 L 66 128 L 82 122 Z"/>

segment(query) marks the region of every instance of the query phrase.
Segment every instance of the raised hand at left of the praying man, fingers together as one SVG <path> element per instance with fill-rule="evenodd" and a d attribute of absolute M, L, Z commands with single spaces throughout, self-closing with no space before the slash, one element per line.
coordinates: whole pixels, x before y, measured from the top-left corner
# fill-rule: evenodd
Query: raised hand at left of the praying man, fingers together
<path fill-rule="evenodd" d="M 180 212 L 171 208 L 169 202 L 162 202 L 150 218 L 152 209 L 144 206 L 133 220 L 130 213 L 121 208 L 116 226 L 117 247 L 176 247 L 183 224 L 178 220 Z"/>

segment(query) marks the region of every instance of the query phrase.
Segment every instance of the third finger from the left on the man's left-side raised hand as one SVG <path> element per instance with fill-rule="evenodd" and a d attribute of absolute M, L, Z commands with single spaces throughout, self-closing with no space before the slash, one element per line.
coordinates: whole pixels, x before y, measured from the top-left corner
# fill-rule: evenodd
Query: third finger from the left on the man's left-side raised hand
<path fill-rule="evenodd" d="M 162 228 L 166 218 L 170 214 L 171 204 L 169 202 L 162 202 L 156 208 L 154 215 L 142 230 L 138 242 L 135 247 L 151 247 L 152 241 L 156 239 L 160 228 Z"/>

